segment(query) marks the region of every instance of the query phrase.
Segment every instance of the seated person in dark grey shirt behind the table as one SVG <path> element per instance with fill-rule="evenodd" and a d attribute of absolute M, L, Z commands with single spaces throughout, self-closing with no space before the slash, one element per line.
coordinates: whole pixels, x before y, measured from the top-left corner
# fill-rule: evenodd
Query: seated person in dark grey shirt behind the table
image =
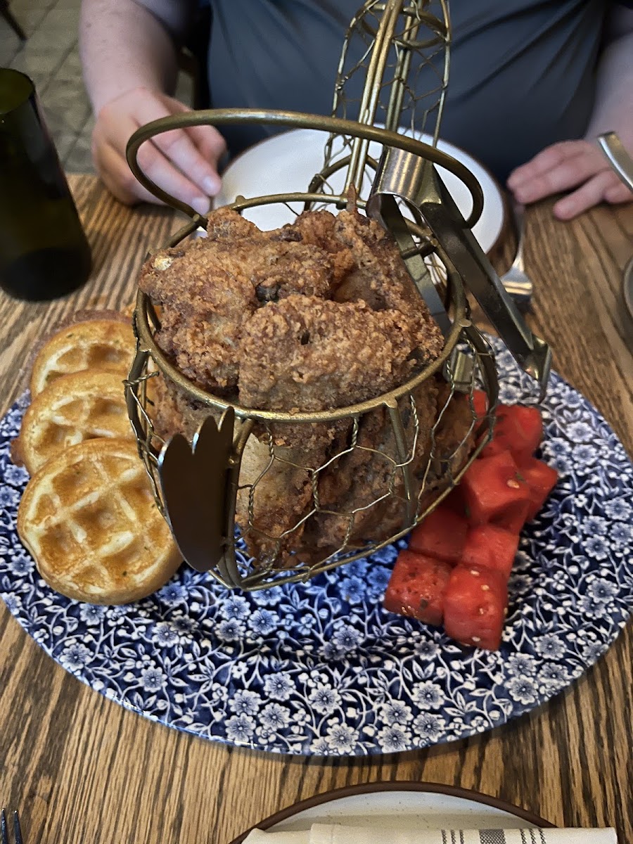
<path fill-rule="evenodd" d="M 360 0 L 210 0 L 209 106 L 328 114 L 338 57 Z M 95 111 L 93 154 L 125 203 L 155 201 L 125 160 L 145 122 L 174 100 L 184 0 L 83 0 L 80 46 Z M 557 192 L 560 219 L 630 191 L 593 139 L 619 133 L 633 152 L 633 8 L 609 0 L 452 0 L 451 76 L 441 137 L 487 165 L 524 203 Z M 205 44 L 206 36 L 205 36 Z M 360 82 L 360 75 L 353 80 Z M 421 78 L 420 84 L 425 80 Z M 354 117 L 354 114 L 348 116 Z M 139 163 L 206 213 L 218 161 L 271 127 L 195 127 L 146 143 Z"/>

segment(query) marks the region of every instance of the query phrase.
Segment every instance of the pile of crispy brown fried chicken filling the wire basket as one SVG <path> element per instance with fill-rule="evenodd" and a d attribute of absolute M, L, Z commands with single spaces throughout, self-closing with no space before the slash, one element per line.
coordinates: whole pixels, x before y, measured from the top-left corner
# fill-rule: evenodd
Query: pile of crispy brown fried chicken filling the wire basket
<path fill-rule="evenodd" d="M 391 235 L 353 202 L 337 217 L 308 212 L 269 232 L 220 208 L 206 239 L 151 257 L 139 284 L 161 306 L 157 342 L 168 358 L 245 407 L 294 414 L 362 403 L 402 385 L 443 347 Z M 438 391 L 430 379 L 400 400 L 416 496 Z M 170 396 L 170 426 L 181 415 L 189 436 L 198 411 L 186 404 Z M 459 433 L 454 425 L 447 440 Z M 292 565 L 401 529 L 403 473 L 394 463 L 387 408 L 356 422 L 257 423 L 236 510 L 249 551 L 262 565 Z"/>

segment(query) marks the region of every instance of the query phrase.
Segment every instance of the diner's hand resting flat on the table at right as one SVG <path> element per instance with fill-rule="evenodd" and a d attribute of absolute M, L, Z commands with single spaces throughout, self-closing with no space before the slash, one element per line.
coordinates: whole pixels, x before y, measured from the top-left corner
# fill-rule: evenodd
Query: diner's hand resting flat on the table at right
<path fill-rule="evenodd" d="M 558 219 L 572 219 L 601 202 L 633 200 L 633 193 L 619 181 L 602 150 L 589 141 L 552 144 L 513 170 L 507 186 L 523 204 L 570 191 L 555 203 L 554 214 Z"/>

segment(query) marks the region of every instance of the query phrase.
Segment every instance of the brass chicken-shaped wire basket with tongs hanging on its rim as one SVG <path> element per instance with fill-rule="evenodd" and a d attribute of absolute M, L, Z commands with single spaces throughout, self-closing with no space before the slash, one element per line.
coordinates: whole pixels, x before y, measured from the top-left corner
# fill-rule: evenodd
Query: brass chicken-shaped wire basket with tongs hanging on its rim
<path fill-rule="evenodd" d="M 341 209 L 349 197 L 357 197 L 358 208 L 391 231 L 419 295 L 444 335 L 439 357 L 384 395 L 318 412 L 256 410 L 206 392 L 178 371 L 155 339 L 160 314 L 139 291 L 134 317 L 138 349 L 127 383 L 127 406 L 139 451 L 157 504 L 183 555 L 227 587 L 259 589 L 305 580 L 371 554 L 408 533 L 458 483 L 490 435 L 490 410 L 498 391 L 490 345 L 470 320 L 467 290 L 522 369 L 544 391 L 549 349 L 523 322 L 470 231 L 483 208 L 479 183 L 463 164 L 436 147 L 449 43 L 443 0 L 367 0 L 344 42 L 333 116 L 249 109 L 192 111 L 141 127 L 128 144 L 128 162 L 143 186 L 191 218 L 167 244 L 175 246 L 206 225 L 206 219 L 143 174 L 136 158 L 141 143 L 176 127 L 252 122 L 327 133 L 322 170 L 307 190 L 237 197 L 230 208 L 240 214 L 273 203 L 300 203 L 305 210 Z M 408 83 L 424 72 L 430 73 L 427 93 L 415 94 Z M 360 96 L 354 100 L 358 90 Z M 346 119 L 352 107 L 357 120 Z M 431 116 L 434 127 L 427 123 Z M 430 130 L 432 143 L 398 131 L 404 123 L 416 133 Z M 371 143 L 380 145 L 381 154 L 371 154 Z M 473 209 L 467 220 L 436 166 L 468 187 Z M 146 389 L 154 376 L 162 378 L 200 419 L 201 425 L 186 438 L 176 434 L 164 441 L 157 435 L 155 407 Z M 476 388 L 488 399 L 484 417 L 474 408 Z M 427 405 L 434 408 L 434 421 L 425 427 Z M 451 437 L 457 412 L 462 427 L 456 429 L 459 436 Z M 371 447 L 367 435 L 371 425 L 379 431 L 380 447 L 375 443 Z M 339 440 L 332 436 L 331 451 L 323 452 L 319 463 L 306 463 L 297 452 L 301 432 L 316 430 L 343 434 Z M 295 450 L 289 443 L 292 437 L 297 438 Z M 255 473 L 248 468 L 253 452 L 260 460 Z M 370 469 L 381 485 L 371 488 L 369 500 L 354 498 L 354 483 L 344 506 L 327 499 L 326 481 L 338 489 L 338 474 L 346 472 L 354 479 Z M 297 479 L 305 500 L 295 512 L 290 505 L 299 489 Z M 362 487 L 360 481 L 356 485 Z M 259 495 L 261 490 L 267 495 Z M 270 490 L 293 514 L 275 532 L 261 510 L 262 499 L 271 506 Z M 380 532 L 381 525 L 388 525 L 387 533 Z M 336 541 L 327 545 L 326 534 Z"/>

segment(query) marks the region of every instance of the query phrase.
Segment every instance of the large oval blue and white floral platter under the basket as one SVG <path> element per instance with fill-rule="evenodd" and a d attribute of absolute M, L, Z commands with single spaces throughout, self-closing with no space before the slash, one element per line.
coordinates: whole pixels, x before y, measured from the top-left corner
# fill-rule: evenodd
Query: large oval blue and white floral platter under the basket
<path fill-rule="evenodd" d="M 495 343 L 500 400 L 532 383 Z M 578 678 L 633 607 L 633 467 L 609 425 L 553 375 L 543 457 L 560 472 L 526 527 L 498 653 L 381 608 L 398 549 L 303 585 L 226 592 L 183 566 L 151 598 L 95 607 L 37 575 L 15 531 L 26 473 L 0 422 L 0 595 L 57 663 L 113 701 L 203 738 L 290 754 L 390 753 L 482 733 Z"/>

